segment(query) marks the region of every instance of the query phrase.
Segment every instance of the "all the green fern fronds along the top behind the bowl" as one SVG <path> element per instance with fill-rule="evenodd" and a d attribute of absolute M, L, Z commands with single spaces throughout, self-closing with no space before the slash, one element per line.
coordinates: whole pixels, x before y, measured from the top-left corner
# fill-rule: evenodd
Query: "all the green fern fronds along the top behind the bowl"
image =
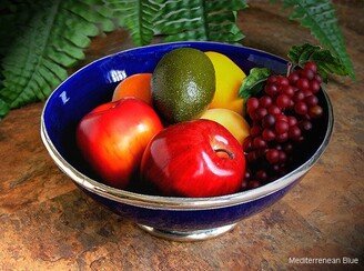
<path fill-rule="evenodd" d="M 283 0 L 289 18 L 309 28 L 320 44 L 354 70 L 330 0 Z M 91 38 L 128 29 L 134 46 L 214 40 L 241 43 L 237 11 L 245 0 L 17 0 L 0 2 L 0 119 L 10 109 L 44 100 L 84 58 Z"/>

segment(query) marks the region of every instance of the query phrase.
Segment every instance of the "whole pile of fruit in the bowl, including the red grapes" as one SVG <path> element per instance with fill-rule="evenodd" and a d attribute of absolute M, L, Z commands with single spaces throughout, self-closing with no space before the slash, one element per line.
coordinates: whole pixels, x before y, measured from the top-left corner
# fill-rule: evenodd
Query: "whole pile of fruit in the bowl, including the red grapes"
<path fill-rule="evenodd" d="M 222 53 L 175 49 L 84 116 L 77 143 L 100 179 L 119 189 L 169 197 L 254 189 L 291 169 L 324 114 L 317 93 L 326 74 L 306 59 L 285 76 L 253 68 L 246 77 Z"/>

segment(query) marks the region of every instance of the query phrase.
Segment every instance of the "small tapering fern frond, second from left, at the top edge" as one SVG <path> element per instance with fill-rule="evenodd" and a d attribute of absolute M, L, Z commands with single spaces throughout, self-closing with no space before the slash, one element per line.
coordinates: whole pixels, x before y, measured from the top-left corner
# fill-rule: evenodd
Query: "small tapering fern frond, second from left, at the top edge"
<path fill-rule="evenodd" d="M 154 0 L 105 0 L 119 26 L 129 29 L 134 44 L 145 46 L 153 39 L 154 21 L 160 6 Z"/>

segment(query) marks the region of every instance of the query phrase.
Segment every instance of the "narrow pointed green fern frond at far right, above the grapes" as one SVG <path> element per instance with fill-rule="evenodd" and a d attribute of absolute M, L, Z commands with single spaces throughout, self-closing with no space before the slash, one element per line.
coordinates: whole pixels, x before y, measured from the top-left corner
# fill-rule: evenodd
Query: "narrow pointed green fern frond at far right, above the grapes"
<path fill-rule="evenodd" d="M 346 52 L 344 38 L 337 24 L 335 9 L 331 1 L 284 0 L 284 7 L 294 8 L 290 18 L 300 21 L 303 27 L 309 28 L 323 47 L 337 56 L 345 66 L 347 73 L 354 79 L 354 68 Z"/>

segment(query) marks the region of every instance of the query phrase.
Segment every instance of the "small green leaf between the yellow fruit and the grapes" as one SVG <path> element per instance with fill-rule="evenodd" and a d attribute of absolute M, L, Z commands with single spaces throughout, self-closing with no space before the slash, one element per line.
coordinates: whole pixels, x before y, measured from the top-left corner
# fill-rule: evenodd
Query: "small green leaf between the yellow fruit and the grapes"
<path fill-rule="evenodd" d="M 250 97 L 257 94 L 263 89 L 263 84 L 270 74 L 271 70 L 267 68 L 251 69 L 249 76 L 240 87 L 239 97 L 246 101 Z"/>

